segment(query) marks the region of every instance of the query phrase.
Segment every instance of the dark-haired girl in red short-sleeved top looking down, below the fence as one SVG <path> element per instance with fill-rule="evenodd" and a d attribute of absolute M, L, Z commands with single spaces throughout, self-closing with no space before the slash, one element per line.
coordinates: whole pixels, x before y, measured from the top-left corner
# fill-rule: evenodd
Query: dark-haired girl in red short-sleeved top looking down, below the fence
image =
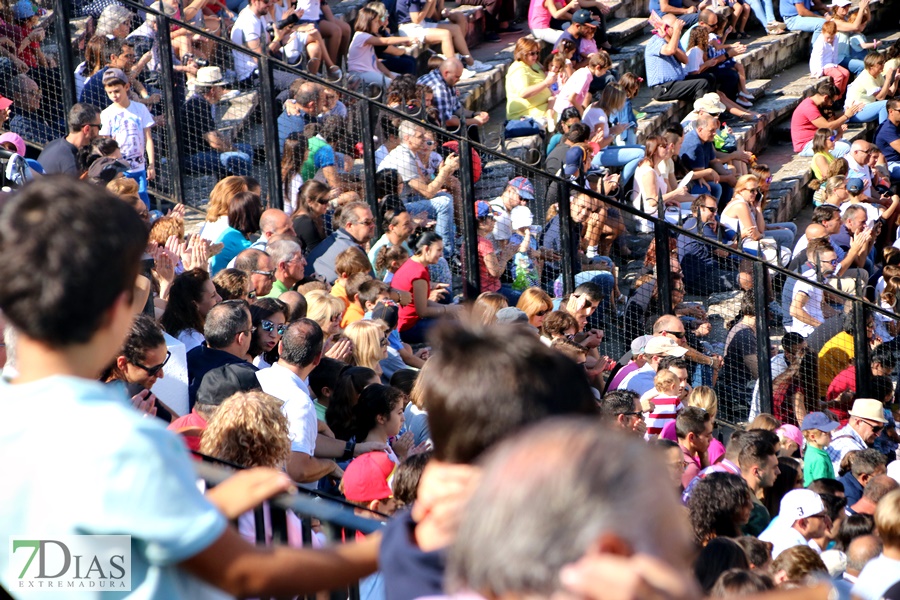
<path fill-rule="evenodd" d="M 422 343 L 425 332 L 437 317 L 455 314 L 460 308 L 458 304 L 438 302 L 447 294 L 447 286 L 437 284 L 432 289 L 428 275 L 428 265 L 437 263 L 443 256 L 443 238 L 432 231 L 426 232 L 416 242 L 415 251 L 415 255 L 400 265 L 391 280 L 391 287 L 410 292 L 413 297 L 412 302 L 400 307 L 398 315 L 400 339 L 407 344 Z"/>

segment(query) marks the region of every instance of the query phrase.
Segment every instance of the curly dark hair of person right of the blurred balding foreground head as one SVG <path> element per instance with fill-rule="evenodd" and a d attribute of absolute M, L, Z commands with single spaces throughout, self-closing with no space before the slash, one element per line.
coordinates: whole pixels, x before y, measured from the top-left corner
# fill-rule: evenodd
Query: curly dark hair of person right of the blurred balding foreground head
<path fill-rule="evenodd" d="M 706 544 L 717 537 L 739 537 L 741 512 L 752 502 L 750 488 L 737 475 L 710 473 L 698 481 L 688 500 L 697 541 Z"/>

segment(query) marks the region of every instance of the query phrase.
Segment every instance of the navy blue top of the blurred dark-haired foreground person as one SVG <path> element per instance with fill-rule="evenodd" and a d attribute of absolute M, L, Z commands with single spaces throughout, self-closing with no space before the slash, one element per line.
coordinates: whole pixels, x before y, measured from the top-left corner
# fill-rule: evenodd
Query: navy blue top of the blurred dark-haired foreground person
<path fill-rule="evenodd" d="M 415 526 L 407 509 L 396 513 L 384 528 L 378 570 L 384 576 L 385 598 L 416 600 L 444 595 L 447 551 L 420 550 L 413 541 Z"/>

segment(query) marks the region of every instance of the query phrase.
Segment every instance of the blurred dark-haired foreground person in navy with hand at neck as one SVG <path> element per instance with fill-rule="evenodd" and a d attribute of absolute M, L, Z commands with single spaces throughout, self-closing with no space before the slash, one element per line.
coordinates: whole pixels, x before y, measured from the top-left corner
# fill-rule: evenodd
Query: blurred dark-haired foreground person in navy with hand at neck
<path fill-rule="evenodd" d="M 417 382 L 428 402 L 434 457 L 412 510 L 397 513 L 382 540 L 381 555 L 391 557 L 381 565 L 385 596 L 392 600 L 443 594 L 447 548 L 464 506 L 460 494 L 477 478 L 475 463 L 487 450 L 547 417 L 597 411 L 584 370 L 533 334 L 452 326 L 435 334 L 435 354 Z M 487 405 L 494 407 L 490 415 Z"/>

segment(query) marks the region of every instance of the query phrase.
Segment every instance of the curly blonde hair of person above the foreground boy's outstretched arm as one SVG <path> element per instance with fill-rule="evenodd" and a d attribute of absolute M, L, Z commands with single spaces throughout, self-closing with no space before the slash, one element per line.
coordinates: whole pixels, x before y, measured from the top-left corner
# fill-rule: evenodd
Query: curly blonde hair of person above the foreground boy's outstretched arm
<path fill-rule="evenodd" d="M 258 390 L 229 397 L 203 431 L 200 452 L 245 467 L 280 467 L 291 453 L 281 400 Z"/>

